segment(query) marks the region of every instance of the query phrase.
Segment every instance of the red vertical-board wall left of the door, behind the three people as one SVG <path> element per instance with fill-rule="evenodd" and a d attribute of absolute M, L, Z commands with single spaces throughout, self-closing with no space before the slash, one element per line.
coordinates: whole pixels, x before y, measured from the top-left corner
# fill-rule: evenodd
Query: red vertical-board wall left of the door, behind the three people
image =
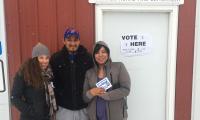
<path fill-rule="evenodd" d="M 94 6 L 88 0 L 5 0 L 9 77 L 31 56 L 37 42 L 51 52 L 63 46 L 67 27 L 79 30 L 81 43 L 90 51 L 94 40 Z M 19 114 L 12 108 L 13 120 Z"/>

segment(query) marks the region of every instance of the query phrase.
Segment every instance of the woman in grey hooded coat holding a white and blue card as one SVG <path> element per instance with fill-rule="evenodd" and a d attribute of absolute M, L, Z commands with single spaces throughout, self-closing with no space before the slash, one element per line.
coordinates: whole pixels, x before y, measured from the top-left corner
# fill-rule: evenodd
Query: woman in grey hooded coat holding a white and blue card
<path fill-rule="evenodd" d="M 96 43 L 95 66 L 86 72 L 84 100 L 90 120 L 126 120 L 130 77 L 122 62 L 112 62 L 105 42 Z"/>

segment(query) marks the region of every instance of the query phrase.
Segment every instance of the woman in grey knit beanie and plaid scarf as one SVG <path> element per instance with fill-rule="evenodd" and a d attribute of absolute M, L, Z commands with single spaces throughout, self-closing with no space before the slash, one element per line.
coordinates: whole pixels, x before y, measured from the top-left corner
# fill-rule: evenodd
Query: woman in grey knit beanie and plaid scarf
<path fill-rule="evenodd" d="M 49 57 L 48 48 L 38 43 L 32 58 L 15 75 L 11 102 L 21 112 L 20 120 L 55 120 L 57 106 Z"/>

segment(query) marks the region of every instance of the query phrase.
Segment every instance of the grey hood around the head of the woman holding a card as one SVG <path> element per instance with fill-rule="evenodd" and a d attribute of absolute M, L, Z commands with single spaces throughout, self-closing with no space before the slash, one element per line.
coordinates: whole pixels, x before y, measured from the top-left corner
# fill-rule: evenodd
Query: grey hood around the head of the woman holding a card
<path fill-rule="evenodd" d="M 95 68 L 96 68 L 96 69 L 97 69 L 97 64 L 96 64 L 96 62 L 95 62 L 95 58 L 94 58 L 93 55 L 94 55 L 94 49 L 95 49 L 95 47 L 96 47 L 97 44 L 103 45 L 103 46 L 105 46 L 105 47 L 107 47 L 107 48 L 109 49 L 108 45 L 107 45 L 104 41 L 98 41 L 98 42 L 95 43 L 94 48 L 93 48 L 93 52 L 92 52 L 92 58 L 93 58 L 93 61 L 94 61 L 94 64 L 95 64 Z M 110 50 L 110 49 L 109 49 L 109 50 Z M 107 70 L 110 68 L 109 66 L 110 66 L 111 62 L 112 62 L 112 60 L 111 60 L 110 54 L 109 54 L 108 60 L 107 60 L 106 63 L 105 63 L 105 68 L 106 68 Z"/>

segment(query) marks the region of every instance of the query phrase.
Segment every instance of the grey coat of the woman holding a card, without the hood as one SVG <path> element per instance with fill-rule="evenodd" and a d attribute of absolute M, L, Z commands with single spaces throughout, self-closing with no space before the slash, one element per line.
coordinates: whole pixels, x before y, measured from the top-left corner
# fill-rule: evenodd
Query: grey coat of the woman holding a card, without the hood
<path fill-rule="evenodd" d="M 123 120 L 127 118 L 126 97 L 130 92 L 130 77 L 121 62 L 111 62 L 109 59 L 105 65 L 106 77 L 112 84 L 111 90 L 100 96 L 107 101 L 108 120 Z M 93 67 L 86 72 L 83 98 L 89 103 L 87 110 L 90 120 L 96 120 L 96 97 L 89 92 L 96 87 L 97 67 Z"/>

